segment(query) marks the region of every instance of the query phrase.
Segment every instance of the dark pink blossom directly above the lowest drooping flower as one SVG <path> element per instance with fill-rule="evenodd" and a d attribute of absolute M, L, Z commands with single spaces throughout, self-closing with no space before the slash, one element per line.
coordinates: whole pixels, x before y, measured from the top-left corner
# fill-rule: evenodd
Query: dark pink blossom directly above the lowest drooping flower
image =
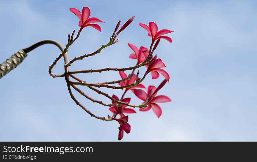
<path fill-rule="evenodd" d="M 112 98 L 115 98 L 116 100 L 119 100 L 119 98 L 116 96 L 116 95 L 112 95 Z M 123 100 L 122 100 L 122 102 L 130 102 L 130 99 L 131 98 L 124 98 Z M 112 103 L 114 104 L 114 103 L 116 103 L 116 102 L 114 102 L 114 101 L 112 101 Z M 112 106 L 112 107 L 110 107 L 109 108 L 109 110 L 111 111 L 111 112 L 116 112 L 116 115 L 117 114 L 120 114 L 120 116 L 121 117 L 124 117 L 124 114 L 123 113 L 128 113 L 128 114 L 131 114 L 131 113 L 136 113 L 136 111 L 135 110 L 133 110 L 133 109 L 129 109 L 129 108 L 126 108 L 127 106 L 126 105 L 121 105 L 120 107 L 117 107 L 117 106 Z M 115 115 L 115 117 L 116 117 L 116 115 Z"/>

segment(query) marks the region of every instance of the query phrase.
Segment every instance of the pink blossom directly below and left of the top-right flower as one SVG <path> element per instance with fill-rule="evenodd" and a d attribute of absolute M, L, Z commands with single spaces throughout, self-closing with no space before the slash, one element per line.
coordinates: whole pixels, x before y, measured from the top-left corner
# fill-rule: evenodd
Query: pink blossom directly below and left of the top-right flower
<path fill-rule="evenodd" d="M 145 59 L 147 58 L 147 55 L 149 53 L 149 50 L 143 46 L 141 46 L 138 50 L 138 48 L 131 44 L 131 43 L 128 43 L 129 47 L 134 51 L 134 53 L 131 53 L 129 55 L 129 58 L 132 58 L 132 59 L 137 59 L 138 62 L 136 65 L 140 64 L 141 62 L 144 62 Z M 145 56 L 145 53 L 147 53 L 147 55 Z"/>

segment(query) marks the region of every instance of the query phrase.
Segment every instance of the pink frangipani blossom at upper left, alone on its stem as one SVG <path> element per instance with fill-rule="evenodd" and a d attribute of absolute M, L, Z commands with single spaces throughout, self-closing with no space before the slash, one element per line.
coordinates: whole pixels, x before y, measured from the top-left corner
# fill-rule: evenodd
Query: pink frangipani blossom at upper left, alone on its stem
<path fill-rule="evenodd" d="M 83 29 L 86 26 L 91 26 L 101 32 L 101 27 L 97 24 L 92 24 L 92 23 L 103 22 L 103 21 L 99 20 L 98 18 L 89 18 L 91 12 L 88 7 L 82 8 L 82 14 L 77 8 L 70 8 L 70 11 L 78 16 L 79 26 L 81 27 L 81 29 Z"/>

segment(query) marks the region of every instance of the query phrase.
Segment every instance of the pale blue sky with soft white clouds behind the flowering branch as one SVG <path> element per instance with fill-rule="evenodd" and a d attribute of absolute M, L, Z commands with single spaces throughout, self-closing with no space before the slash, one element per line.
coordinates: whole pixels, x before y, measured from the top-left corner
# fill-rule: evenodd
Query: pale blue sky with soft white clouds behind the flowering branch
<path fill-rule="evenodd" d="M 256 141 L 256 36 L 254 1 L 0 1 L 0 62 L 37 41 L 54 39 L 63 46 L 67 34 L 78 30 L 78 18 L 69 8 L 88 6 L 90 17 L 104 21 L 102 32 L 87 27 L 68 52 L 69 59 L 91 53 L 108 43 L 121 19 L 135 16 L 120 41 L 100 54 L 77 61 L 71 70 L 129 67 L 132 50 L 127 43 L 149 47 L 150 38 L 138 23 L 154 21 L 172 43 L 162 40 L 156 50 L 171 80 L 158 94 L 172 102 L 160 103 L 158 119 L 152 110 L 129 115 L 131 133 L 123 141 Z M 1 84 L 1 141 L 116 141 L 116 121 L 91 118 L 70 98 L 64 78 L 52 78 L 48 67 L 60 54 L 52 45 L 28 53 L 21 65 Z M 143 73 L 144 68 L 140 69 Z M 53 69 L 63 73 L 63 60 Z M 119 79 L 117 72 L 78 75 L 88 82 Z M 145 86 L 158 86 L 150 76 Z M 93 98 L 110 102 L 86 87 Z M 121 90 L 102 89 L 121 96 Z M 107 107 L 75 93 L 99 116 Z M 131 102 L 141 103 L 131 92 Z"/>

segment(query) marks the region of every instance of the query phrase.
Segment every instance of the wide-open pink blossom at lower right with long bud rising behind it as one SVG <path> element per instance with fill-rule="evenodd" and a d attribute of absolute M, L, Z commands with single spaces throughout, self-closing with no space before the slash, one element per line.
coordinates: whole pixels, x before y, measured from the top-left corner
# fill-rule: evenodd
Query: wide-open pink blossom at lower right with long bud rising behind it
<path fill-rule="evenodd" d="M 147 89 L 147 93 L 144 90 L 141 89 L 131 89 L 131 91 L 141 100 L 143 100 L 144 102 L 148 102 L 148 106 L 143 109 L 140 108 L 139 111 L 149 111 L 151 108 L 154 111 L 154 114 L 156 114 L 156 116 L 159 118 L 162 115 L 162 109 L 161 107 L 156 104 L 155 102 L 170 102 L 171 99 L 168 96 L 165 95 L 157 95 L 157 91 L 159 89 L 161 89 L 162 86 L 164 86 L 164 84 L 167 82 L 167 80 L 165 79 L 158 88 L 156 88 L 155 86 L 148 86 Z"/>

